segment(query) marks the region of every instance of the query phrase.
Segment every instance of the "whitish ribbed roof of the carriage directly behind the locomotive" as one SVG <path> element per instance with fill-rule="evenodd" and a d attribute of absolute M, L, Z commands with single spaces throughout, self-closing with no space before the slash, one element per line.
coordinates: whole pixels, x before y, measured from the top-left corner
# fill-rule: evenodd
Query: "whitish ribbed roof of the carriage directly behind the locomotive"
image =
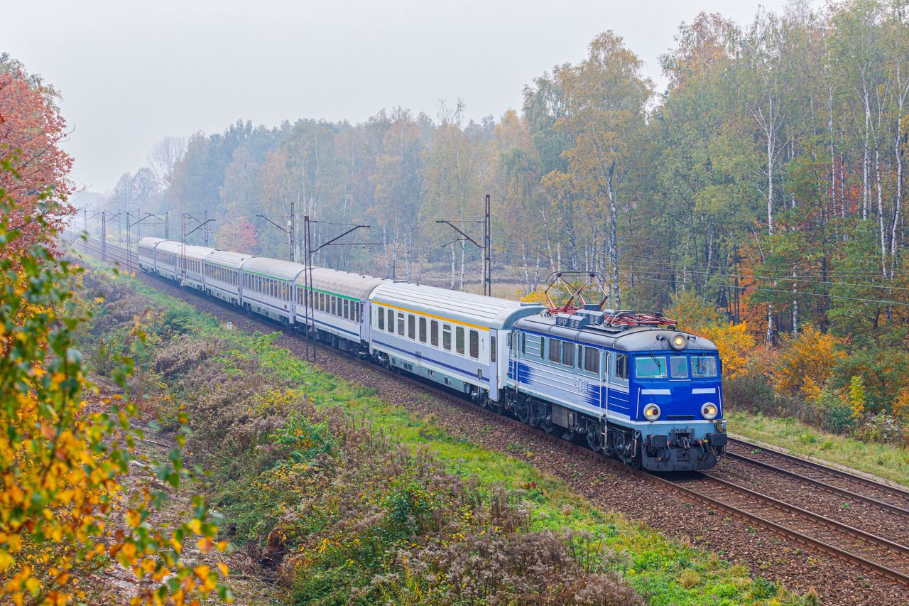
<path fill-rule="evenodd" d="M 542 309 L 539 305 L 524 305 L 506 298 L 389 281 L 377 286 L 370 300 L 379 305 L 424 312 L 485 328 L 510 326 L 514 319 L 539 313 Z"/>

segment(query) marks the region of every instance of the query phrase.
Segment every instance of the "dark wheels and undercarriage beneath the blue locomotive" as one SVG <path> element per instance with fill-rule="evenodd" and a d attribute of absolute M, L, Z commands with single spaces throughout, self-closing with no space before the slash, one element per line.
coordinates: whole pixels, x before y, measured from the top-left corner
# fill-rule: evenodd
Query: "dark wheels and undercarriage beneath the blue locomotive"
<path fill-rule="evenodd" d="M 522 423 L 548 433 L 585 443 L 595 452 L 603 452 L 635 469 L 652 471 L 709 470 L 726 446 L 725 433 L 710 433 L 695 440 L 692 429 L 672 429 L 669 435 L 642 435 L 630 429 L 594 419 L 558 404 L 506 390 L 504 409 Z"/>

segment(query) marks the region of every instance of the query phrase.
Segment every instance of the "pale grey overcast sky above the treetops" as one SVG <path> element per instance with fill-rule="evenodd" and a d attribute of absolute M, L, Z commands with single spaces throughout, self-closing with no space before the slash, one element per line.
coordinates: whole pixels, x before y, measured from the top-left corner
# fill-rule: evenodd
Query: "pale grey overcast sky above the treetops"
<path fill-rule="evenodd" d="M 34 0 L 6 3 L 0 51 L 63 94 L 80 186 L 104 191 L 162 136 L 237 118 L 359 122 L 404 106 L 501 116 L 524 85 L 612 29 L 646 63 L 700 11 L 739 23 L 784 0 Z"/>

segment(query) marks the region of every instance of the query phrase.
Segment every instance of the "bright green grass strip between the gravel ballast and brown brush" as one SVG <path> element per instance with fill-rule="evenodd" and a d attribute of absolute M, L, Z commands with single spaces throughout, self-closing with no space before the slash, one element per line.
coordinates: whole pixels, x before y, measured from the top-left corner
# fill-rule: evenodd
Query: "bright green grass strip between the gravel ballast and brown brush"
<path fill-rule="evenodd" d="M 252 348 L 254 338 L 221 328 L 214 318 L 195 311 L 182 301 L 137 285 L 161 308 L 179 309 L 192 318 L 192 332 L 235 341 L 237 348 Z M 534 530 L 574 528 L 587 530 L 617 552 L 627 555 L 620 572 L 652 604 L 802 603 L 760 578 L 751 579 L 742 566 L 731 566 L 713 554 L 667 540 L 654 530 L 626 520 L 621 514 L 595 510 L 563 481 L 545 476 L 523 460 L 514 459 L 463 439 L 456 439 L 432 419 L 418 419 L 406 409 L 375 397 L 370 389 L 353 385 L 312 369 L 285 349 L 257 347 L 273 371 L 305 386 L 316 406 L 343 406 L 367 415 L 402 442 L 416 448 L 427 445 L 443 458 L 454 473 L 475 474 L 479 482 L 507 486 L 532 486 Z M 684 586 L 685 585 L 685 586 Z M 775 597 L 774 597 L 775 596 Z"/>

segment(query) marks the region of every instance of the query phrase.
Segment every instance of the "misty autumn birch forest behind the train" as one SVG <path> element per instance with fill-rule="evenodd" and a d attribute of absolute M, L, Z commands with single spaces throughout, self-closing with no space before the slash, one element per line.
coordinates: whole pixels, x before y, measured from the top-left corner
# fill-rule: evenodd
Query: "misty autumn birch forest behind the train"
<path fill-rule="evenodd" d="M 845 401 L 852 384 L 874 411 L 909 402 L 904 5 L 794 2 L 746 25 L 701 14 L 660 61 L 662 92 L 605 31 L 498 118 L 468 120 L 458 101 L 437 116 L 168 137 L 108 203 L 167 212 L 173 239 L 183 213 L 215 218 L 210 243 L 276 258 L 288 238 L 257 216 L 283 225 L 294 203 L 318 221 L 316 245 L 372 226 L 357 241 L 375 246 L 328 248 L 317 264 L 463 289 L 479 286 L 478 250 L 436 221 L 478 234 L 489 194 L 499 296 L 534 298 L 555 270 L 596 272 L 608 307 L 696 303 L 711 312 L 701 324 L 742 325 L 739 347 L 765 350 L 749 354 L 761 375 L 809 327 L 849 355 L 795 395 L 828 384 Z M 152 218 L 141 228 L 163 235 Z"/>

